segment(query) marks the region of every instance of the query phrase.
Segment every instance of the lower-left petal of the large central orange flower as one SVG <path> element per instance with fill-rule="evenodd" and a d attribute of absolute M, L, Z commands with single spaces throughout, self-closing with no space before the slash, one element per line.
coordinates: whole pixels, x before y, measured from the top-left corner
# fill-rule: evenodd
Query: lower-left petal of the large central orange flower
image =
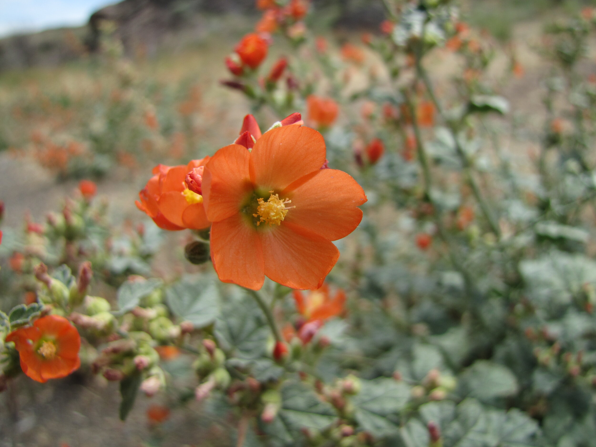
<path fill-rule="evenodd" d="M 236 213 L 211 226 L 213 267 L 224 283 L 259 290 L 265 281 L 263 250 L 259 233 L 252 222 L 244 219 L 244 216 Z"/>

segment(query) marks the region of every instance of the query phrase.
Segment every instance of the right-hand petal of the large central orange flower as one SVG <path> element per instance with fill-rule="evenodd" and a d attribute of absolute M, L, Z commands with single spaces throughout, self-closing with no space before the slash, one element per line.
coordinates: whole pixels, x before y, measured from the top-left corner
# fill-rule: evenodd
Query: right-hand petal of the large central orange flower
<path fill-rule="evenodd" d="M 285 222 L 308 228 L 334 241 L 350 234 L 362 221 L 358 206 L 367 201 L 362 187 L 347 173 L 320 169 L 290 185 L 282 197 L 291 199 Z"/>

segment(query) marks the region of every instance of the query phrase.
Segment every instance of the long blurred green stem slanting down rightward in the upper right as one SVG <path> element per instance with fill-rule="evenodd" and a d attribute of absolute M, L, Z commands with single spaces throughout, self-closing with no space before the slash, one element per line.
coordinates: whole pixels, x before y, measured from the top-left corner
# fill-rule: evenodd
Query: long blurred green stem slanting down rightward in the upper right
<path fill-rule="evenodd" d="M 439 113 L 441 120 L 443 121 L 443 123 L 448 125 L 449 131 L 451 132 L 451 135 L 455 141 L 455 151 L 457 152 L 462 166 L 464 167 L 465 181 L 470 186 L 472 194 L 474 194 L 474 198 L 476 198 L 476 201 L 480 205 L 480 210 L 482 210 L 482 214 L 485 216 L 485 219 L 491 227 L 492 232 L 495 233 L 497 237 L 500 239 L 501 228 L 499 227 L 498 221 L 492 215 L 491 207 L 489 207 L 488 203 L 483 197 L 482 191 L 480 190 L 480 187 L 476 182 L 476 178 L 474 178 L 470 160 L 468 159 L 463 148 L 461 147 L 460 140 L 458 139 L 457 132 L 455 131 L 454 126 L 451 123 L 449 123 L 449 121 L 446 119 L 443 107 L 437 99 L 436 94 L 434 94 L 433 84 L 432 82 L 430 82 L 429 75 L 422 66 L 420 54 L 417 54 L 416 57 L 416 72 L 418 73 L 418 76 L 420 77 L 420 79 L 422 79 L 422 82 L 426 86 L 426 89 L 429 92 L 430 100 L 433 102 L 434 107 L 436 107 L 437 113 Z"/>

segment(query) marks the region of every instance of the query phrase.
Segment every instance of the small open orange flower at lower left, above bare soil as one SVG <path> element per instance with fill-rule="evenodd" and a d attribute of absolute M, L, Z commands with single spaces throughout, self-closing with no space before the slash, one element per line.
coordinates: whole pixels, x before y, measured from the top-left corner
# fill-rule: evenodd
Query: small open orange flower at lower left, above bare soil
<path fill-rule="evenodd" d="M 48 315 L 6 337 L 14 342 L 23 373 L 38 382 L 66 377 L 80 366 L 80 336 L 63 316 Z"/>

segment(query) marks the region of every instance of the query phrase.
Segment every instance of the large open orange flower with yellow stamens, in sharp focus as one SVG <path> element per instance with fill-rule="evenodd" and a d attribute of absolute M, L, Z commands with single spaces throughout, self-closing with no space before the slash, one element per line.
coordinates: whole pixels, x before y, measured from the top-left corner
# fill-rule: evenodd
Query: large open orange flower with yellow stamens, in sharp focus
<path fill-rule="evenodd" d="M 232 144 L 205 166 L 204 204 L 219 279 L 258 290 L 265 275 L 292 288 L 318 288 L 339 258 L 331 241 L 362 219 L 367 200 L 346 173 L 321 169 L 325 141 L 284 126 L 252 151 Z"/>

